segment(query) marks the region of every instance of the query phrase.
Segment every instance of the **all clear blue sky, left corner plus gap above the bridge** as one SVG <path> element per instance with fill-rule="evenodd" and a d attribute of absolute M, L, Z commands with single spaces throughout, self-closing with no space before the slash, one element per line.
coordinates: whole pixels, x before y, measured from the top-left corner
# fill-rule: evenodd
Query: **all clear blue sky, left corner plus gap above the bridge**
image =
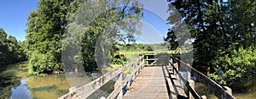
<path fill-rule="evenodd" d="M 9 35 L 15 36 L 18 41 L 26 39 L 27 15 L 35 10 L 39 0 L 1 0 L 0 1 L 0 28 Z M 158 43 L 159 38 L 166 36 L 168 25 L 166 25 L 167 3 L 157 0 L 141 0 L 144 4 L 144 17 L 142 32 L 139 38 L 143 41 Z M 151 41 L 148 41 L 151 40 Z"/>

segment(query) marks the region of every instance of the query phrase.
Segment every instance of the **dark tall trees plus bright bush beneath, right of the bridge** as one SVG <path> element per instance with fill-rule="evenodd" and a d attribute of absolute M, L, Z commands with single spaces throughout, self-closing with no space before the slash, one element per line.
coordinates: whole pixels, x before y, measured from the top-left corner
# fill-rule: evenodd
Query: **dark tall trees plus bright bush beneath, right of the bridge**
<path fill-rule="evenodd" d="M 189 30 L 195 52 L 195 64 L 211 66 L 218 73 L 209 74 L 221 85 L 239 85 L 255 78 L 255 0 L 174 0 L 169 24 L 179 13 Z M 175 26 L 174 26 L 175 27 Z M 180 40 L 170 32 L 172 45 Z M 172 41 L 170 41 L 169 38 Z"/>

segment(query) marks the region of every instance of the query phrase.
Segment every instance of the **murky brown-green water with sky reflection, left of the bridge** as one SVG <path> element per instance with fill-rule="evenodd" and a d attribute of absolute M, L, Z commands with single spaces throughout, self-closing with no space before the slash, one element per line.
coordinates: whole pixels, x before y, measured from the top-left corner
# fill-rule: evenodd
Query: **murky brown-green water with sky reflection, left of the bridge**
<path fill-rule="evenodd" d="M 24 62 L 0 71 L 1 99 L 55 99 L 68 92 L 70 86 L 65 74 L 29 76 L 26 70 Z"/>

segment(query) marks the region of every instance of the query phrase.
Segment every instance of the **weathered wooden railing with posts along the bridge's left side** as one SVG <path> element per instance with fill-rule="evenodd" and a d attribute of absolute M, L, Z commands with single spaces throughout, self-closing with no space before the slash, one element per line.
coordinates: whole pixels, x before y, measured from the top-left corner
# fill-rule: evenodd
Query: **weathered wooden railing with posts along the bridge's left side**
<path fill-rule="evenodd" d="M 139 58 L 131 61 L 130 63 L 126 63 L 125 66 L 120 67 L 108 74 L 104 74 L 96 80 L 91 81 L 90 83 L 83 85 L 79 88 L 72 87 L 69 89 L 69 93 L 64 96 L 59 97 L 59 99 L 69 99 L 69 98 L 86 98 L 90 96 L 93 92 L 98 90 L 102 85 L 108 83 L 109 80 L 113 80 L 113 78 L 118 77 L 119 79 L 114 83 L 114 90 L 107 97 L 108 99 L 113 99 L 115 97 L 122 97 L 124 92 L 123 88 L 125 85 L 129 87 L 131 85 L 131 81 L 135 79 L 136 75 L 140 73 L 144 64 L 144 56 L 140 56 Z M 130 69 L 129 73 L 125 74 L 124 70 Z"/>

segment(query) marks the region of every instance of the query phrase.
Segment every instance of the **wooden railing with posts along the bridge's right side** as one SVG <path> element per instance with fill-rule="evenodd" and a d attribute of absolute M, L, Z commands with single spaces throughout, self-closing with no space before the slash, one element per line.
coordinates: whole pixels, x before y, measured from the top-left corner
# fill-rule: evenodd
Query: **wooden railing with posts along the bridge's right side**
<path fill-rule="evenodd" d="M 213 92 L 215 96 L 217 96 L 219 99 L 235 99 L 234 96 L 232 96 L 232 91 L 228 86 L 221 86 L 218 85 L 215 81 L 211 80 L 207 77 L 207 75 L 202 74 L 201 72 L 197 71 L 196 69 L 192 68 L 188 63 L 183 63 L 177 58 L 170 57 L 170 64 L 172 66 L 172 70 L 174 74 L 178 74 L 180 80 L 183 80 L 183 82 L 186 82 L 186 87 L 189 91 L 189 98 L 195 98 L 195 99 L 202 99 L 205 98 L 203 96 L 199 96 L 198 93 L 195 91 L 195 82 L 194 80 L 190 79 L 190 74 L 193 74 L 197 80 L 199 80 L 202 84 L 206 85 L 207 88 Z M 179 66 L 178 66 L 179 65 Z M 183 77 L 183 74 L 180 74 L 178 72 L 179 68 L 183 68 L 188 72 L 188 80 L 186 81 Z"/>

